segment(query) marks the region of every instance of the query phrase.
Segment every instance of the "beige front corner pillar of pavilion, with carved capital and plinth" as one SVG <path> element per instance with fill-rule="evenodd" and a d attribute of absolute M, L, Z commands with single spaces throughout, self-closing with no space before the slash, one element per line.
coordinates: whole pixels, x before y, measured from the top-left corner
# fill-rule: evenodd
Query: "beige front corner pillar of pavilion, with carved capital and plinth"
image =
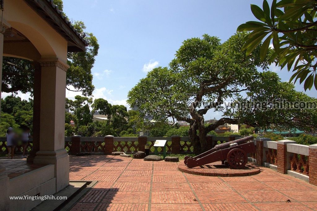
<path fill-rule="evenodd" d="M 40 147 L 33 163 L 55 164 L 56 192 L 69 184 L 69 156 L 65 149 L 65 87 L 67 64 L 58 59 L 41 65 Z"/>

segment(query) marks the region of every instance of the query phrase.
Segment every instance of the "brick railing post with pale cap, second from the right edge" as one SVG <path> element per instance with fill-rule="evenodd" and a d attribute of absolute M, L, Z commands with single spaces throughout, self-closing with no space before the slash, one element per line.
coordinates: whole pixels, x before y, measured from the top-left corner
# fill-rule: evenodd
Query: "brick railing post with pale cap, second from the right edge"
<path fill-rule="evenodd" d="M 277 141 L 277 172 L 282 174 L 286 174 L 291 166 L 289 162 L 290 153 L 287 152 L 287 144 L 296 144 L 296 142 L 290 140 Z"/>

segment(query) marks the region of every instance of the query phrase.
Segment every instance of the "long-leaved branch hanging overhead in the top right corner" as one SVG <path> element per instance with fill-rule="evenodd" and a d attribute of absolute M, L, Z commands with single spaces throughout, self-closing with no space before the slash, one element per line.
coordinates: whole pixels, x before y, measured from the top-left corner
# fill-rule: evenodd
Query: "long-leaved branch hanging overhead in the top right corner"
<path fill-rule="evenodd" d="M 251 54 L 262 40 L 260 57 L 264 60 L 272 41 L 274 53 L 270 63 L 287 67 L 293 75 L 290 81 L 304 82 L 304 89 L 317 89 L 317 1 L 273 0 L 270 6 L 263 1 L 262 9 L 251 4 L 251 11 L 259 21 L 241 24 L 237 31 L 250 31 L 242 50 Z"/>

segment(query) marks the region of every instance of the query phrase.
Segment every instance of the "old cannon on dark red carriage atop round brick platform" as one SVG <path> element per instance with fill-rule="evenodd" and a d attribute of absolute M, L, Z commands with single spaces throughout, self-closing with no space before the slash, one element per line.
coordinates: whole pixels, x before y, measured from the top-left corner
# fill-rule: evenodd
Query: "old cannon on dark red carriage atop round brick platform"
<path fill-rule="evenodd" d="M 188 168 L 206 165 L 220 160 L 227 160 L 228 164 L 235 169 L 240 169 L 248 162 L 247 154 L 255 151 L 253 142 L 248 142 L 253 136 L 247 136 L 234 141 L 216 145 L 214 148 L 197 155 L 196 157 L 186 156 L 184 163 Z M 230 144 L 237 145 L 230 147 Z"/>

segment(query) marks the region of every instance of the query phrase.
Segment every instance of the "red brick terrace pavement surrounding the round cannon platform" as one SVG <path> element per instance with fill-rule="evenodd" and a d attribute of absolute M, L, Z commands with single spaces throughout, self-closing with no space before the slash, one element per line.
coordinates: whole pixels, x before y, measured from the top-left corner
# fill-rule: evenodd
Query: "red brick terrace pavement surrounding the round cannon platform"
<path fill-rule="evenodd" d="M 71 180 L 98 180 L 71 210 L 317 210 L 317 186 L 289 175 L 199 176 L 178 171 L 181 162 L 71 156 Z"/>

